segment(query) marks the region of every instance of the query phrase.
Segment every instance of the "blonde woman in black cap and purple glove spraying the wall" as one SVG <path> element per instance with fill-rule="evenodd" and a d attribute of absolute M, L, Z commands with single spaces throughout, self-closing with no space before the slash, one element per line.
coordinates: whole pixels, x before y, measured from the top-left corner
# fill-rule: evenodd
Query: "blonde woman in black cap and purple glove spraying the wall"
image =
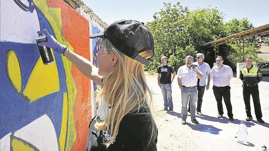
<path fill-rule="evenodd" d="M 70 60 L 84 75 L 99 85 L 97 115 L 89 125 L 87 150 L 157 150 L 157 127 L 150 111 L 151 93 L 144 66 L 154 55 L 152 34 L 144 23 L 119 20 L 104 32 L 97 54 L 98 68 L 61 45 L 46 30 L 46 45 Z M 149 98 L 148 98 L 149 96 Z M 85 125 L 86 126 L 86 125 Z"/>

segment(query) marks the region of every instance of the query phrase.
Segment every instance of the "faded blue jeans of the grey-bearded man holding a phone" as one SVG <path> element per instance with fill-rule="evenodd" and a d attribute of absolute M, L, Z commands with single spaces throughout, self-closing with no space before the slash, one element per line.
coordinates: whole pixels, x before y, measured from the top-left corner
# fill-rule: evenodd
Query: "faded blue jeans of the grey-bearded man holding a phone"
<path fill-rule="evenodd" d="M 186 120 L 187 119 L 187 105 L 189 102 L 189 98 L 190 98 L 190 113 L 191 116 L 190 118 L 193 120 L 195 119 L 195 103 L 196 103 L 196 99 L 197 99 L 197 86 L 193 87 L 193 88 L 184 88 L 183 90 L 181 90 L 181 99 L 182 99 L 182 108 L 181 108 L 181 117 L 182 120 Z"/>

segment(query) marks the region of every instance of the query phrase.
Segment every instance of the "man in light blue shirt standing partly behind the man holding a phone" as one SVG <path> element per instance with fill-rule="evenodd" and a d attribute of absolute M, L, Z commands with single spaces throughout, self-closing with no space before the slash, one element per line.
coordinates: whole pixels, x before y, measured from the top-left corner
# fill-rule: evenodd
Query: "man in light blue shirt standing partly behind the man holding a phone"
<path fill-rule="evenodd" d="M 208 63 L 204 62 L 205 59 L 205 55 L 202 53 L 197 53 L 196 54 L 196 59 L 197 62 L 194 62 L 193 64 L 196 65 L 197 67 L 199 67 L 199 70 L 203 73 L 203 77 L 201 79 L 198 79 L 197 82 L 197 90 L 198 90 L 198 99 L 197 99 L 197 108 L 196 108 L 196 113 L 200 116 L 202 116 L 203 114 L 201 113 L 201 106 L 202 106 L 202 102 L 203 102 L 203 96 L 204 96 L 204 92 L 205 92 L 205 88 L 206 90 L 209 89 L 209 83 L 210 83 L 210 66 Z M 207 79 L 207 84 L 206 84 L 206 79 Z M 190 102 L 189 102 L 189 108 L 188 108 L 188 115 L 190 116 Z"/>

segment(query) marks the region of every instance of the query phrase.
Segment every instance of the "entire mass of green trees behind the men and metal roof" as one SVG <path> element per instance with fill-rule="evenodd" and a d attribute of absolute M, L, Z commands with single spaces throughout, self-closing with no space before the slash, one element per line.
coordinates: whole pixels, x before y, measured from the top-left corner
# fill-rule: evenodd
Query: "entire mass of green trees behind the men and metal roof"
<path fill-rule="evenodd" d="M 164 8 L 154 13 L 153 18 L 146 24 L 155 43 L 155 56 L 150 66 L 145 67 L 151 72 L 157 71 L 162 56 L 167 56 L 168 63 L 177 70 L 185 64 L 187 55 L 195 57 L 197 52 L 203 53 L 205 62 L 212 67 L 215 49 L 212 46 L 201 48 L 200 45 L 253 28 L 247 18 L 234 18 L 224 23 L 224 15 L 217 8 L 190 11 L 188 7 L 182 7 L 180 2 L 175 5 L 164 2 Z M 245 56 L 252 56 L 257 61 L 260 58 L 257 57 L 255 45 L 245 43 Z M 235 69 L 239 62 L 238 44 L 219 45 L 219 55 L 223 56 L 225 64 Z"/>

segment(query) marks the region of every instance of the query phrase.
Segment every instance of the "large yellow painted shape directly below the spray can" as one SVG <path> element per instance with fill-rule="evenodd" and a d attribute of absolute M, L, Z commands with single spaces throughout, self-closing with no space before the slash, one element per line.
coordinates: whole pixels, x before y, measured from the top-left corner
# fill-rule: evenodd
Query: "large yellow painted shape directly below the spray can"
<path fill-rule="evenodd" d="M 44 65 L 41 57 L 39 57 L 23 94 L 30 99 L 30 102 L 33 102 L 59 90 L 59 75 L 56 63 Z"/>

